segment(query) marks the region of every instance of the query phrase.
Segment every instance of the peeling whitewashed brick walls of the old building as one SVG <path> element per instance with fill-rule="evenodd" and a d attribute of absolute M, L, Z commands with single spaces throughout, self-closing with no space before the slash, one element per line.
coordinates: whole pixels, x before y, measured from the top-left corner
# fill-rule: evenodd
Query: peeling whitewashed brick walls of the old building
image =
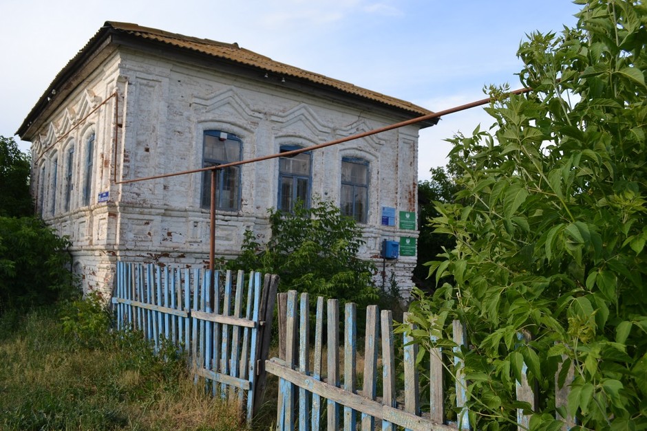
<path fill-rule="evenodd" d="M 115 91 L 118 96 L 111 98 Z M 81 124 L 81 118 L 97 106 Z M 32 193 L 39 208 L 43 204 L 47 208 L 56 193 L 56 209 L 53 214 L 45 210 L 45 221 L 70 236 L 70 251 L 84 289 L 109 294 L 117 258 L 202 267 L 209 252 L 209 212 L 200 208 L 200 174 L 116 185 L 113 169 L 118 179 L 134 179 L 200 168 L 203 132 L 209 129 L 240 137 L 243 158 L 248 159 L 278 153 L 282 144 L 310 146 L 399 120 L 275 83 L 120 49 L 43 123 L 47 126 L 32 143 Z M 92 203 L 83 206 L 85 140 L 92 132 L 96 134 L 93 195 Z M 65 168 L 59 166 L 57 190 L 52 190 L 52 179 L 47 176 L 53 172 L 51 155 L 56 151 L 61 165 L 70 140 L 78 148 L 72 201 L 65 212 Z M 361 256 L 375 259 L 380 270 L 383 239 L 418 236 L 418 231 L 381 225 L 383 206 L 417 210 L 417 142 L 418 126 L 407 126 L 328 147 L 312 156 L 312 195 L 337 203 L 341 157 L 369 162 L 370 207 Z M 45 164 L 45 179 L 41 164 Z M 44 195 L 39 192 L 41 181 L 46 181 Z M 109 193 L 107 202 L 97 201 L 100 192 Z M 242 166 L 240 210 L 216 215 L 216 254 L 235 256 L 246 229 L 260 240 L 268 239 L 267 209 L 277 205 L 277 195 L 277 159 Z M 414 256 L 389 261 L 387 285 L 388 274 L 394 272 L 406 294 L 412 287 L 415 262 Z M 378 285 L 382 281 L 381 274 L 376 274 Z"/>

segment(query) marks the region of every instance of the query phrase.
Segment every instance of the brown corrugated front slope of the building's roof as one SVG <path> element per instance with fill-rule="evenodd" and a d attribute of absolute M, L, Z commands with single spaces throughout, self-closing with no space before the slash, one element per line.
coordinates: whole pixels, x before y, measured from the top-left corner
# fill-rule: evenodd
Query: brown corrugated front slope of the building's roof
<path fill-rule="evenodd" d="M 404 109 L 405 111 L 410 111 L 412 113 L 415 113 L 416 115 L 427 115 L 429 113 L 432 113 L 432 111 L 429 111 L 423 107 L 419 107 L 416 104 L 406 102 L 405 100 L 385 96 L 384 94 L 357 87 L 348 82 L 328 78 L 328 76 L 315 74 L 314 72 L 286 65 L 285 63 L 279 63 L 278 61 L 272 60 L 269 57 L 262 56 L 261 54 L 257 54 L 253 51 L 250 51 L 249 49 L 244 49 L 238 46 L 237 43 L 222 43 L 218 41 L 211 41 L 210 39 L 184 36 L 182 34 L 169 33 L 163 30 L 158 30 L 150 27 L 142 27 L 140 25 L 132 23 L 107 21 L 105 25 L 112 27 L 118 32 L 126 32 L 128 34 L 131 34 L 132 36 L 165 43 L 173 47 L 178 47 L 180 49 L 188 49 L 190 51 L 200 52 L 202 54 L 213 56 L 215 58 L 222 58 L 224 60 L 230 60 L 242 65 L 257 67 L 258 69 L 262 69 L 262 71 L 279 74 L 281 76 L 285 76 L 286 78 L 292 77 L 307 80 L 317 85 L 331 87 L 333 89 L 343 91 L 344 93 L 359 96 L 368 100 L 373 100 L 381 104 L 387 104 L 399 109 Z"/>

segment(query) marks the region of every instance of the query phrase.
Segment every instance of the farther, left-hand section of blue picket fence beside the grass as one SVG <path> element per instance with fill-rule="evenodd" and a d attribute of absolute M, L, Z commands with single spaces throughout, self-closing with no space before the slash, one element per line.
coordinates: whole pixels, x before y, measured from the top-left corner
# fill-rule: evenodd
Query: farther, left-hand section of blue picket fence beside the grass
<path fill-rule="evenodd" d="M 213 289 L 211 288 L 213 280 Z M 118 262 L 112 302 L 118 329 L 142 331 L 159 349 L 189 353 L 196 382 L 235 397 L 251 418 L 262 402 L 278 277 Z"/>

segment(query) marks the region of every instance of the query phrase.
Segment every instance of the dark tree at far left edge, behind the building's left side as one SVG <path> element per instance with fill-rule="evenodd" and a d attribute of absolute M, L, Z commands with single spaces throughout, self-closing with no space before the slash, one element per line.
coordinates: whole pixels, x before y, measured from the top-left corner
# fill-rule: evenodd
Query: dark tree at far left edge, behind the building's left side
<path fill-rule="evenodd" d="M 0 136 L 0 217 L 25 217 L 33 212 L 29 195 L 30 156 L 12 137 Z"/>

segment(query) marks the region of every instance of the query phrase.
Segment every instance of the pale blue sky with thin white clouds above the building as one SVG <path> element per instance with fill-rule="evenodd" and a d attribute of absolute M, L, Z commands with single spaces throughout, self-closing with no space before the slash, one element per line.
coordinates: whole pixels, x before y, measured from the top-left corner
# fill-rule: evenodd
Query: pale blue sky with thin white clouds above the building
<path fill-rule="evenodd" d="M 443 111 L 520 88 L 527 34 L 573 27 L 569 0 L 0 0 L 0 135 L 14 136 L 54 76 L 105 21 L 238 43 L 301 69 Z M 493 120 L 472 108 L 423 129 L 418 178 L 445 166 L 457 132 Z M 29 142 L 15 136 L 22 151 Z"/>

